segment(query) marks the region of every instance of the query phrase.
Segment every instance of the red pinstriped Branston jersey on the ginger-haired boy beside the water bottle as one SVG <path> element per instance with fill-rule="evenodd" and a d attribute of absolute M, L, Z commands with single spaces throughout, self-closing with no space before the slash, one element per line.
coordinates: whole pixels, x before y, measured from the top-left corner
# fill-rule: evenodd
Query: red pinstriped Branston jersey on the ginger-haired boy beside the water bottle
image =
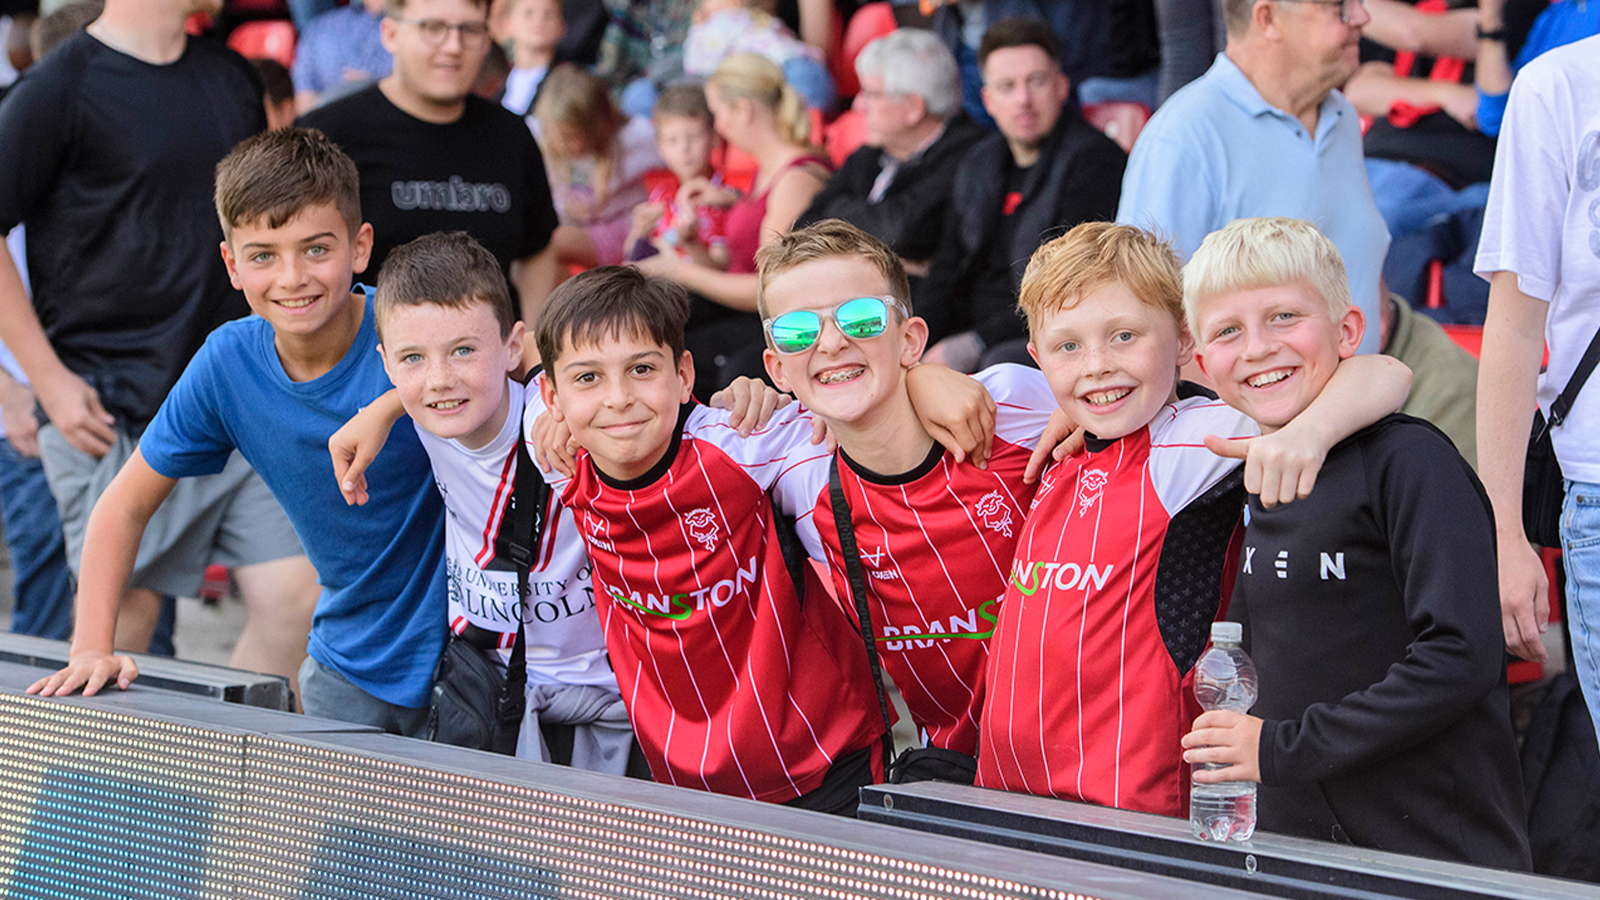
<path fill-rule="evenodd" d="M 1045 472 L 989 647 L 979 785 L 1184 815 L 1190 669 L 1245 500 L 1206 434 L 1259 429 L 1179 400 Z"/>

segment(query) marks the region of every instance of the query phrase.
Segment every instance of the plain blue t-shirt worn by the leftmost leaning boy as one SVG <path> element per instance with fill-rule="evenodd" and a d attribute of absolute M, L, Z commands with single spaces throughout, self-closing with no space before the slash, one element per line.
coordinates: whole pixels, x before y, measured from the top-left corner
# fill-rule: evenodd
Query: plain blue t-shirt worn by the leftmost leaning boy
<path fill-rule="evenodd" d="M 166 477 L 222 471 L 234 448 L 283 504 L 322 596 L 310 655 L 400 706 L 427 706 L 443 650 L 445 516 L 427 453 L 410 420 L 368 469 L 370 500 L 346 506 L 328 437 L 389 389 L 374 352 L 371 290 L 355 344 L 331 372 L 290 381 L 272 327 L 250 315 L 206 338 L 139 439 Z"/>

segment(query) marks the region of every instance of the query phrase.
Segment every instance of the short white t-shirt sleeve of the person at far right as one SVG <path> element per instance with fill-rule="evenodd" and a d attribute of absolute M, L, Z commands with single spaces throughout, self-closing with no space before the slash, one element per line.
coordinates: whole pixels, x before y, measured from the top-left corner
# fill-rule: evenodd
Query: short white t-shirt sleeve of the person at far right
<path fill-rule="evenodd" d="M 1562 227 L 1566 219 L 1568 173 L 1563 130 L 1566 85 L 1558 69 L 1534 61 L 1510 86 L 1510 101 L 1494 152 L 1483 234 L 1472 271 L 1488 279 L 1517 272 L 1531 298 L 1550 301 L 1562 272 Z"/>

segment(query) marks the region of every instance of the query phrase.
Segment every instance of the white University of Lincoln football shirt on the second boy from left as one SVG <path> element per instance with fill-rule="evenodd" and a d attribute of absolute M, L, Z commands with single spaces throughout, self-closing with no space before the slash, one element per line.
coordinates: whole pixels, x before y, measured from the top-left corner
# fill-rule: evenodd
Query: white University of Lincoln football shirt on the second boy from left
<path fill-rule="evenodd" d="M 494 556 L 517 479 L 517 440 L 522 436 L 523 386 L 510 381 L 506 424 L 488 445 L 469 450 L 458 440 L 429 434 L 418 437 L 434 464 L 434 482 L 445 498 L 445 583 L 450 628 L 469 623 L 501 636 L 501 661 L 510 661 L 517 637 L 517 567 Z M 589 581 L 589 554 L 573 524 L 573 514 L 550 496 L 539 557 L 528 573 L 530 684 L 590 684 L 616 687 L 595 615 Z"/>

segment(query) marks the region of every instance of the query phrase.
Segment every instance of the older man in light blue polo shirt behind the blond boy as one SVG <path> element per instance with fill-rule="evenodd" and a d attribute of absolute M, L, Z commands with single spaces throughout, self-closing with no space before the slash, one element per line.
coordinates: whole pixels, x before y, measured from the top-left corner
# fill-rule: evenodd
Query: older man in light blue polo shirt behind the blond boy
<path fill-rule="evenodd" d="M 1293 216 L 1326 234 L 1378 351 L 1378 279 L 1389 229 L 1373 203 L 1355 107 L 1362 0 L 1222 0 L 1227 50 L 1139 135 L 1117 221 L 1173 239 L 1187 259 L 1246 216 Z"/>

